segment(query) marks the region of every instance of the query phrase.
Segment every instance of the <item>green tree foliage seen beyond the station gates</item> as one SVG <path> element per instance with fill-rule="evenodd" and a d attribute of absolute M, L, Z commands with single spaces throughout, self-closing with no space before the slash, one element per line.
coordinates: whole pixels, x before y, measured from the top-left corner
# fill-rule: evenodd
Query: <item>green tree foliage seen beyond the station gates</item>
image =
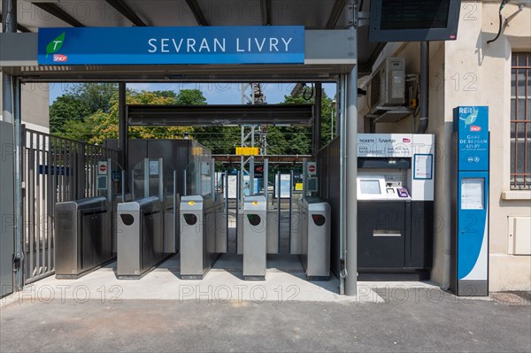
<path fill-rule="evenodd" d="M 313 104 L 310 88 L 296 97 L 285 96 L 283 104 Z M 204 105 L 199 89 L 135 91 L 127 90 L 127 104 Z M 331 99 L 323 91 L 321 147 L 330 139 Z M 118 87 L 110 83 L 84 83 L 69 88 L 50 106 L 50 130 L 73 140 L 101 144 L 118 138 Z M 173 139 L 191 135 L 214 154 L 234 154 L 241 143 L 240 127 L 131 127 L 130 138 Z M 312 153 L 311 127 L 267 127 L 267 154 L 303 155 Z"/>

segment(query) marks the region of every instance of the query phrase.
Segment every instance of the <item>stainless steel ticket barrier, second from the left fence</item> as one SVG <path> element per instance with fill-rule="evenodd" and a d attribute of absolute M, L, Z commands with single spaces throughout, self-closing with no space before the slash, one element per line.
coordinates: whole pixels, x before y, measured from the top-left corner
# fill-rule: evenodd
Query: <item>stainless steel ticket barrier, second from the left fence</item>
<path fill-rule="evenodd" d="M 164 208 L 158 196 L 118 205 L 120 280 L 137 280 L 167 257 L 164 251 Z"/>

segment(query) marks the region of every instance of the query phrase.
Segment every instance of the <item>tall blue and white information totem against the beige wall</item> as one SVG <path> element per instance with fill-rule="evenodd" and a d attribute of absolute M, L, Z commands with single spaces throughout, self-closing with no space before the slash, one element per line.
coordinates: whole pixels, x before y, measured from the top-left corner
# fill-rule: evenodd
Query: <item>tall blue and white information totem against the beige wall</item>
<path fill-rule="evenodd" d="M 454 109 L 450 289 L 489 295 L 489 107 Z"/>

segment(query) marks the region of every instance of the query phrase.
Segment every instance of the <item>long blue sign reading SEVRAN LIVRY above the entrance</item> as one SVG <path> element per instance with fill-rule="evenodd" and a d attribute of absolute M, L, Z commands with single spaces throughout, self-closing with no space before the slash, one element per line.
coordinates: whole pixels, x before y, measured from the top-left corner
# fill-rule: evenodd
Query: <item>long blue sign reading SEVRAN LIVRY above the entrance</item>
<path fill-rule="evenodd" d="M 304 27 L 40 28 L 39 65 L 304 64 Z"/>

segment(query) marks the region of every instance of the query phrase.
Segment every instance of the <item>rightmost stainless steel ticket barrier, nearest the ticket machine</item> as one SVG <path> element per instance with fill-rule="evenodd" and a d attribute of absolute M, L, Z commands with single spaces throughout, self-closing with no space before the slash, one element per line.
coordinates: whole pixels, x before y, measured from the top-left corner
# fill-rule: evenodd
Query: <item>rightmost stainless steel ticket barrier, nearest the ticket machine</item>
<path fill-rule="evenodd" d="M 330 204 L 317 197 L 299 201 L 302 220 L 301 262 L 308 280 L 330 279 Z"/>

